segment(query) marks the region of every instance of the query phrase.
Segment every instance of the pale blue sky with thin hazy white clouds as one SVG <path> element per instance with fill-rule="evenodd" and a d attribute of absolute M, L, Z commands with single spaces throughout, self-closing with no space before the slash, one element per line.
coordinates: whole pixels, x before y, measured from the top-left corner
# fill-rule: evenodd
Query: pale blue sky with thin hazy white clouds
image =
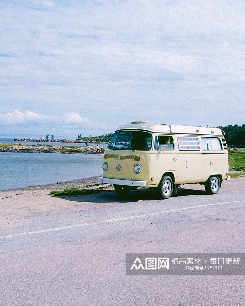
<path fill-rule="evenodd" d="M 245 123 L 245 2 L 0 2 L 0 133 Z"/>

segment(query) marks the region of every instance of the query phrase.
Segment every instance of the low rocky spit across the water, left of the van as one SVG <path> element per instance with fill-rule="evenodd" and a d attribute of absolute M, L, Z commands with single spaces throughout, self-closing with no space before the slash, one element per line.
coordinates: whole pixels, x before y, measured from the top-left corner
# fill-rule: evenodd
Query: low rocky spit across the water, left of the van
<path fill-rule="evenodd" d="M 51 144 L 37 145 L 1 145 L 0 152 L 22 152 L 22 153 L 104 153 L 106 147 L 102 146 L 79 146 L 64 147 Z"/>

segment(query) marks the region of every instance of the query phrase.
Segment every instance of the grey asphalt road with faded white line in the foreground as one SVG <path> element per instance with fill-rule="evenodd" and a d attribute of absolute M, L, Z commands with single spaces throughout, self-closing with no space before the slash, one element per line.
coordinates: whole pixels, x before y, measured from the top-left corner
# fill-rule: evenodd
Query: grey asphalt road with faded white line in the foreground
<path fill-rule="evenodd" d="M 244 191 L 57 198 L 77 210 L 0 230 L 0 305 L 244 306 L 244 276 L 125 275 L 126 252 L 244 252 Z"/>

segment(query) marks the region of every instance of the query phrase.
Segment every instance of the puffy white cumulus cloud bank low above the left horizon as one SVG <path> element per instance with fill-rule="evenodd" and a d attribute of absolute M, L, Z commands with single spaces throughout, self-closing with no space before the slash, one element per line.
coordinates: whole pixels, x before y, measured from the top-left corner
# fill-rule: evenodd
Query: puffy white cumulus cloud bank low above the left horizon
<path fill-rule="evenodd" d="M 22 113 L 14 110 L 12 113 L 0 114 L 0 125 L 66 125 L 67 128 L 77 128 L 78 125 L 89 124 L 88 118 L 82 118 L 77 113 L 67 113 L 62 116 L 39 115 L 30 110 Z"/>

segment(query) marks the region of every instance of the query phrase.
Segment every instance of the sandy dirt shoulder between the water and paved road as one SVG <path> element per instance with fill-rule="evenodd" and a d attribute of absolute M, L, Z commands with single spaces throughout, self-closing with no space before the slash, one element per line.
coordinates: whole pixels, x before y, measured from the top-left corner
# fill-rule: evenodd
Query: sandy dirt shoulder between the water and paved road
<path fill-rule="evenodd" d="M 3 229 L 33 222 L 32 217 L 35 215 L 56 214 L 111 205 L 110 202 L 107 203 L 105 201 L 89 201 L 89 198 L 86 201 L 82 200 L 83 197 L 98 197 L 100 195 L 80 196 L 81 201 L 71 201 L 71 198 L 67 196 L 54 197 L 50 195 L 51 190 L 98 187 L 114 189 L 112 185 L 98 183 L 98 177 L 90 177 L 51 185 L 0 191 L 0 228 Z M 180 185 L 180 187 L 187 189 L 187 193 L 188 189 L 205 190 L 204 186 L 199 184 Z M 245 177 L 223 181 L 219 193 L 236 191 L 245 192 Z"/>

